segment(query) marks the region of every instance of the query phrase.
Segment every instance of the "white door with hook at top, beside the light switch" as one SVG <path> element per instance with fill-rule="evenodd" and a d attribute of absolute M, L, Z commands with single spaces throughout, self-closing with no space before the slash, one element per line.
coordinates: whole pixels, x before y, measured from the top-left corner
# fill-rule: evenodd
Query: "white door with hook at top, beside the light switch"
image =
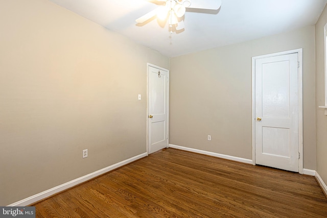
<path fill-rule="evenodd" d="M 168 75 L 167 69 L 148 65 L 149 154 L 168 147 Z"/>

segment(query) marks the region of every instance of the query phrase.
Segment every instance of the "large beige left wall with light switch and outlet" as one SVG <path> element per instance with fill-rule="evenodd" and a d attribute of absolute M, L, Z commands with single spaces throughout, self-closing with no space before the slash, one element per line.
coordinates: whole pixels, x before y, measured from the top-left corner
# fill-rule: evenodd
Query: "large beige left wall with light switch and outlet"
<path fill-rule="evenodd" d="M 0 27 L 1 206 L 146 152 L 169 58 L 45 0 L 0 1 Z"/>

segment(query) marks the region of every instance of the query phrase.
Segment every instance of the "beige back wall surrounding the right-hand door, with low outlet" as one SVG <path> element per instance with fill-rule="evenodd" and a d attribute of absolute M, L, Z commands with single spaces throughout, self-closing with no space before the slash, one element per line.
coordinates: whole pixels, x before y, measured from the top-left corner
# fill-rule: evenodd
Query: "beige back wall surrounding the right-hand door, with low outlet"
<path fill-rule="evenodd" d="M 171 58 L 169 143 L 252 159 L 251 57 L 299 48 L 303 48 L 303 164 L 315 169 L 313 26 Z"/>

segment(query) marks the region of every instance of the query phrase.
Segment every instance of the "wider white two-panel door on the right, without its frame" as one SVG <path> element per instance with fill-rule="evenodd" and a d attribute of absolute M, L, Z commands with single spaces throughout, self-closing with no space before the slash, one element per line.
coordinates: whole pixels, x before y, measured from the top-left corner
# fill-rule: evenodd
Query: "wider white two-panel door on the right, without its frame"
<path fill-rule="evenodd" d="M 255 163 L 298 172 L 298 54 L 255 60 Z"/>

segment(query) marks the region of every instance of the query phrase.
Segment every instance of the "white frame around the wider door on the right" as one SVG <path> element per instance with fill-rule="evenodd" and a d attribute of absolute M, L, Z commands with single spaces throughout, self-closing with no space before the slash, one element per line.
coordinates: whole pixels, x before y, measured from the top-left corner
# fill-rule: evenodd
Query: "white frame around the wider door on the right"
<path fill-rule="evenodd" d="M 303 66 L 302 66 L 302 51 L 303 49 L 278 52 L 268 55 L 252 57 L 252 164 L 255 165 L 255 60 L 269 58 L 280 55 L 288 55 L 297 53 L 298 57 L 298 172 L 303 174 Z"/>

